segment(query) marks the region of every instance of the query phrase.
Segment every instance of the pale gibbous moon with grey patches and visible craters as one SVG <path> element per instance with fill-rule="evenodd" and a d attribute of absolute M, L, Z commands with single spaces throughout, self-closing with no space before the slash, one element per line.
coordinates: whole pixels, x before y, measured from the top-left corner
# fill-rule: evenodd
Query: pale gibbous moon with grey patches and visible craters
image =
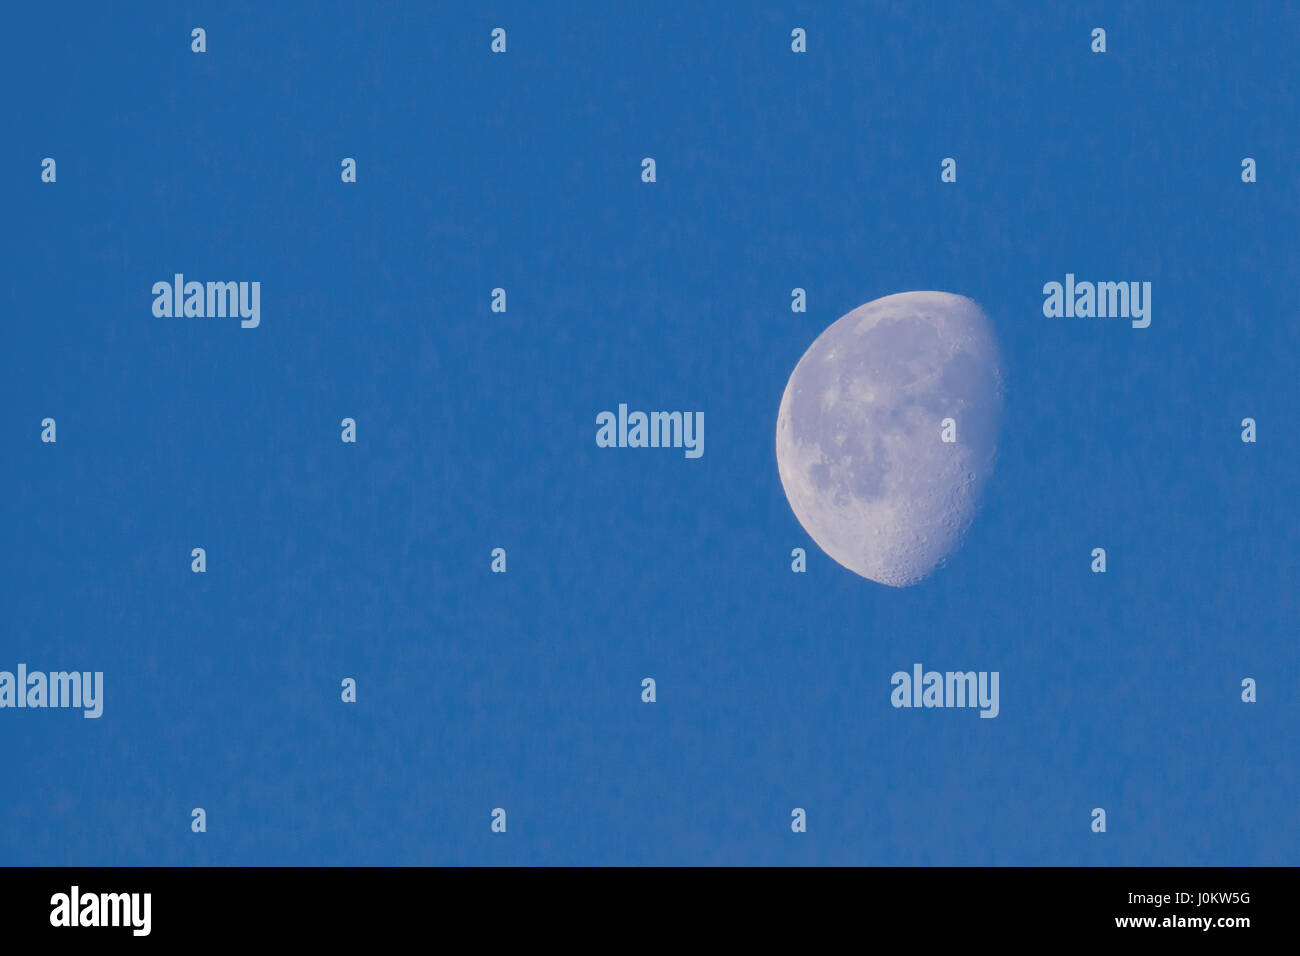
<path fill-rule="evenodd" d="M 916 584 L 961 546 L 1001 415 L 1001 356 L 975 302 L 933 291 L 868 302 L 818 336 L 785 385 L 785 497 L 844 567 Z"/>

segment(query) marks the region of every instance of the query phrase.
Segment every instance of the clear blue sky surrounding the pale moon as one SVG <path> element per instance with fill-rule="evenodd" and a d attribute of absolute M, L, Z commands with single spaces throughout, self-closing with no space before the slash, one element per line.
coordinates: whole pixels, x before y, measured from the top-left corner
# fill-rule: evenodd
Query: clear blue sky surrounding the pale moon
<path fill-rule="evenodd" d="M 5 12 L 0 669 L 105 705 L 0 711 L 0 862 L 1300 862 L 1294 5 L 282 7 Z M 153 317 L 174 272 L 261 326 Z M 1066 272 L 1150 328 L 1045 319 Z M 774 434 L 910 289 L 1008 412 L 894 591 Z M 705 457 L 597 449 L 619 402 Z M 1001 715 L 894 710 L 915 661 Z"/>

